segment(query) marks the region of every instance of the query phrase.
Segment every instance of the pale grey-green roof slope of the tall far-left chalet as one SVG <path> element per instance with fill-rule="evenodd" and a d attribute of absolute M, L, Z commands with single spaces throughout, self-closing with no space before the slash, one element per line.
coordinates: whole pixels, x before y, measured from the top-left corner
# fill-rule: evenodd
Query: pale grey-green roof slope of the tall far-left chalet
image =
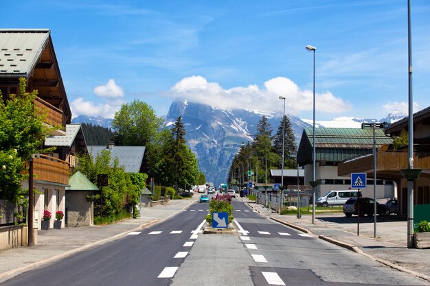
<path fill-rule="evenodd" d="M 0 75 L 27 78 L 49 40 L 49 29 L 0 29 Z"/>

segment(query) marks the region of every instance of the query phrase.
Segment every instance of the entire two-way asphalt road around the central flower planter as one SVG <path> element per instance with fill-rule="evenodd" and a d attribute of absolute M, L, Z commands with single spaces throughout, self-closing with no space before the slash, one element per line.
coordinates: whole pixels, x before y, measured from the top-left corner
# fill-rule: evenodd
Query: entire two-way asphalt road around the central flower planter
<path fill-rule="evenodd" d="M 1 285 L 428 285 L 233 202 L 237 233 L 199 232 L 208 204 Z"/>

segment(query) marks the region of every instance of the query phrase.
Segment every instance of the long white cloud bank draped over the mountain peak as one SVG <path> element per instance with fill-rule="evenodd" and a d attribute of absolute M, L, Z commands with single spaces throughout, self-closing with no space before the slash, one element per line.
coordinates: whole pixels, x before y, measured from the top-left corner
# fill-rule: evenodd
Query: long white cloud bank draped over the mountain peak
<path fill-rule="evenodd" d="M 303 110 L 313 109 L 313 91 L 302 90 L 288 78 L 273 78 L 264 82 L 264 88 L 257 85 L 237 86 L 224 89 L 216 82 L 207 82 L 199 75 L 183 78 L 170 88 L 172 97 L 181 97 L 191 102 L 210 104 L 217 108 L 245 108 L 262 111 L 280 111 L 285 97 L 286 112 L 298 115 Z M 320 112 L 344 112 L 351 109 L 348 102 L 330 92 L 317 93 L 315 108 Z"/>

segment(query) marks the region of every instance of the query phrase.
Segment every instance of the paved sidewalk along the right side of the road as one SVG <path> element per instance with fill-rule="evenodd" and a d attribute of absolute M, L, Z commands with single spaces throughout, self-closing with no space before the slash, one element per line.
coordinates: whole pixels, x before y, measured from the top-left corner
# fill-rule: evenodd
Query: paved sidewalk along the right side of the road
<path fill-rule="evenodd" d="M 316 213 L 315 224 L 312 224 L 312 215 L 302 215 L 301 219 L 297 219 L 296 215 L 279 215 L 254 201 L 246 198 L 242 200 L 263 215 L 286 226 L 348 248 L 394 269 L 414 274 L 430 285 L 430 249 L 407 248 L 405 219 L 393 215 L 385 217 L 383 222 L 376 222 L 374 238 L 373 217 L 361 218 L 360 235 L 357 235 L 357 219 L 347 220 L 343 213 Z"/>

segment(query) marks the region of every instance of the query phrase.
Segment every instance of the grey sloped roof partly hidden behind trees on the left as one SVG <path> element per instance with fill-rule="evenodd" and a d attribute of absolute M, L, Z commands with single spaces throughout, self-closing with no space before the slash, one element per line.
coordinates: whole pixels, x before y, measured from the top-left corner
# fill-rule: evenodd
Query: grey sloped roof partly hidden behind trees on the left
<path fill-rule="evenodd" d="M 93 156 L 94 160 L 98 154 L 102 153 L 102 150 L 110 151 L 111 165 L 113 165 L 113 160 L 118 158 L 120 165 L 124 166 L 126 173 L 139 173 L 145 155 L 145 146 L 113 146 L 111 150 L 105 145 L 91 145 L 87 147 L 89 154 Z"/>

